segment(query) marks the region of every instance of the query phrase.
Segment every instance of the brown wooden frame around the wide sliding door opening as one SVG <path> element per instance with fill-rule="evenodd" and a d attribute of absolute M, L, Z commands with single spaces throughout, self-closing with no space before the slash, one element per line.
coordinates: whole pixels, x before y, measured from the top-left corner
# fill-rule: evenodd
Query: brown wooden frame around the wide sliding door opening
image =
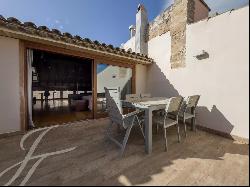
<path fill-rule="evenodd" d="M 126 67 L 132 69 L 132 93 L 136 92 L 136 64 L 129 63 L 128 61 L 113 59 L 112 57 L 108 56 L 99 56 L 88 54 L 83 51 L 76 51 L 72 49 L 62 48 L 58 46 L 52 46 L 47 44 L 29 42 L 29 41 L 22 41 L 20 40 L 19 45 L 20 51 L 20 119 L 21 119 L 21 130 L 27 131 L 28 130 L 28 94 L 27 94 L 27 58 L 26 58 L 26 51 L 27 49 L 37 49 L 77 58 L 84 58 L 90 59 L 92 61 L 92 118 L 97 118 L 97 106 L 96 106 L 96 99 L 97 99 L 97 64 L 103 63 L 108 65 Z"/>

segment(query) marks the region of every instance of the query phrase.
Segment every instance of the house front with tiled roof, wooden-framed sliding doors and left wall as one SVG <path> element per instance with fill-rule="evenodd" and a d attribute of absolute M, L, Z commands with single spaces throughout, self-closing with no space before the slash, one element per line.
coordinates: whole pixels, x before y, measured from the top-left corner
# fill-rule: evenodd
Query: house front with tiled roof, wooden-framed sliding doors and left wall
<path fill-rule="evenodd" d="M 1 116 L 0 134 L 105 117 L 103 88 L 120 87 L 123 97 L 136 93 L 142 77 L 137 65 L 153 63 L 146 55 L 14 17 L 1 16 L 0 24 L 2 77 L 13 81 L 3 89 L 8 115 Z"/>

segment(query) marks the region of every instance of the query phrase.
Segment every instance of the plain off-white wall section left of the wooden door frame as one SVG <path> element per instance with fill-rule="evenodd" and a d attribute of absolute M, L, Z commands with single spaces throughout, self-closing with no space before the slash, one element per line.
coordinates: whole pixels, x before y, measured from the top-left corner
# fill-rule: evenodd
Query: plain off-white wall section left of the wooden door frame
<path fill-rule="evenodd" d="M 1 36 L 0 91 L 0 134 L 19 131 L 19 41 Z"/>

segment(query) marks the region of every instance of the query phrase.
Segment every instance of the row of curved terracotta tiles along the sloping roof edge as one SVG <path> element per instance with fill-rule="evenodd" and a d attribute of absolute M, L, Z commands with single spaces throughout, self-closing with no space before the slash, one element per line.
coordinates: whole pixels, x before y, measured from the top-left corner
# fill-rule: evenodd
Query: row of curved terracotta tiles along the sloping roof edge
<path fill-rule="evenodd" d="M 22 23 L 18 19 L 14 17 L 4 18 L 0 15 L 0 29 L 1 27 L 7 28 L 10 30 L 30 34 L 33 36 L 40 36 L 44 38 L 50 38 L 56 41 L 63 41 L 69 44 L 75 44 L 78 46 L 83 46 L 99 51 L 105 51 L 108 53 L 113 53 L 120 56 L 130 57 L 134 59 L 139 59 L 144 61 L 145 63 L 152 63 L 153 59 L 149 58 L 147 55 L 125 51 L 125 49 L 114 47 L 113 45 L 107 45 L 105 43 L 100 43 L 99 41 L 95 40 L 92 41 L 89 38 L 82 38 L 78 35 L 72 36 L 70 33 L 65 32 L 61 33 L 61 31 L 57 29 L 49 29 L 46 26 L 36 26 L 32 22 L 24 22 Z"/>

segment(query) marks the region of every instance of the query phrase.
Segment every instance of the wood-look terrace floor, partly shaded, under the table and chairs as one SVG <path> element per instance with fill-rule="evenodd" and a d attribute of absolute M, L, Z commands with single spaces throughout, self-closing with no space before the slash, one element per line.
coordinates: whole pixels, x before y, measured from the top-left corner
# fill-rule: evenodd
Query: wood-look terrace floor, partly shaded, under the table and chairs
<path fill-rule="evenodd" d="M 121 158 L 117 146 L 105 137 L 109 123 L 108 118 L 102 118 L 51 127 L 31 156 L 72 149 L 48 156 L 36 166 L 37 160 L 28 160 L 18 176 L 15 173 L 20 165 L 0 173 L 0 185 L 13 176 L 16 179 L 9 185 L 19 185 L 25 178 L 25 185 L 249 185 L 247 144 L 201 130 L 188 130 L 184 138 L 183 128 L 178 143 L 176 129 L 170 128 L 170 150 L 164 152 L 163 135 L 153 128 L 153 150 L 147 155 L 135 128 Z M 31 133 L 21 142 L 25 151 L 20 148 L 22 135 L 0 139 L 0 172 L 24 160 L 37 137 L 48 128 Z"/>

